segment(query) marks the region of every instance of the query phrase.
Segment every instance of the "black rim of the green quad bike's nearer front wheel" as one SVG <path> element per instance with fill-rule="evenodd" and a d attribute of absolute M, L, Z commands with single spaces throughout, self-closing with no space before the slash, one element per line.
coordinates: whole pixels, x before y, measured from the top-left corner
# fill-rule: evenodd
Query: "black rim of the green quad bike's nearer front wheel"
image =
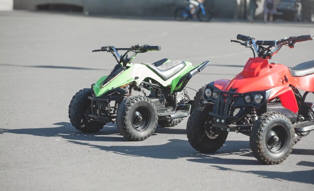
<path fill-rule="evenodd" d="M 132 113 L 131 123 L 135 130 L 142 131 L 148 128 L 150 123 L 150 111 L 145 106 L 138 106 Z"/>

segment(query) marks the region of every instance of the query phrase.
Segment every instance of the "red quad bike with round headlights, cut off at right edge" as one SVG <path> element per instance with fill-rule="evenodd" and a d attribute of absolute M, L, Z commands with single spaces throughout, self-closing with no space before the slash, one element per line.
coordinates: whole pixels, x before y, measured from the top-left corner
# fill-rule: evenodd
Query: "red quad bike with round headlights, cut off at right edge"
<path fill-rule="evenodd" d="M 243 42 L 231 41 L 250 47 L 254 57 L 233 79 L 213 81 L 201 91 L 203 96 L 196 95 L 207 103 L 189 117 L 188 139 L 196 150 L 210 153 L 223 145 L 228 132 L 241 132 L 250 136 L 251 150 L 260 162 L 278 164 L 300 137 L 314 130 L 314 103 L 305 101 L 314 92 L 314 60 L 292 68 L 268 60 L 283 45 L 293 47 L 313 36 L 264 41 L 238 34 L 237 39 Z"/>

